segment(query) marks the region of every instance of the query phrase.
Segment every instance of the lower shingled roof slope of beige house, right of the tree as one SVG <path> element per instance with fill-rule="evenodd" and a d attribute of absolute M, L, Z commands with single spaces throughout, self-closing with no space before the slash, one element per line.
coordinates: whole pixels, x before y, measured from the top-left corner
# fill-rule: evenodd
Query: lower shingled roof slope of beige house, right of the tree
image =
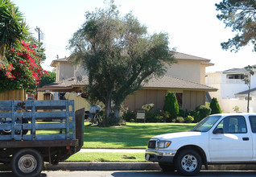
<path fill-rule="evenodd" d="M 217 91 L 217 88 L 209 87 L 204 84 L 198 84 L 188 80 L 183 80 L 174 76 L 163 76 L 159 79 L 152 78 L 147 84 L 142 84 L 144 88 L 181 88 Z"/>

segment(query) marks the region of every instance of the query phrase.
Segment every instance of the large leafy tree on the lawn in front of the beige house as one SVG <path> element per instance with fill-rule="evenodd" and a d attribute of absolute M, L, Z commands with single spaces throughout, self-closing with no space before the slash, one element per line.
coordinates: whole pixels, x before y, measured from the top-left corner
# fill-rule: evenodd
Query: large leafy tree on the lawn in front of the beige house
<path fill-rule="evenodd" d="M 171 64 L 173 53 L 166 33 L 149 35 L 133 14 L 121 17 L 113 1 L 85 16 L 69 41 L 70 60 L 88 70 L 89 98 L 104 103 L 105 125 L 114 125 L 126 97 L 141 88 L 143 80 L 162 76 L 163 61 Z"/>

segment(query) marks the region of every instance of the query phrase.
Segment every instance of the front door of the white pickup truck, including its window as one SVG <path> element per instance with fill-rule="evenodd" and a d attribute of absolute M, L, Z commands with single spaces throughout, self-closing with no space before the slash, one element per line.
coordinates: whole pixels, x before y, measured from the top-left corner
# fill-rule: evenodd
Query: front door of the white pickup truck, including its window
<path fill-rule="evenodd" d="M 247 161 L 253 157 L 252 137 L 243 116 L 222 119 L 215 129 L 222 133 L 209 132 L 209 154 L 212 162 Z"/>

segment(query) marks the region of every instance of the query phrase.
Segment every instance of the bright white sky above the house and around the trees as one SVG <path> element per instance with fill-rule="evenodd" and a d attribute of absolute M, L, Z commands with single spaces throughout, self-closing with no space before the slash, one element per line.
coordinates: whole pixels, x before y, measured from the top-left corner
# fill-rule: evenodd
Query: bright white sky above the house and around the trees
<path fill-rule="evenodd" d="M 12 0 L 23 12 L 27 25 L 38 37 L 35 28 L 43 32 L 43 45 L 47 60 L 42 64 L 52 71 L 52 60 L 68 57 L 66 49 L 83 23 L 85 12 L 104 8 L 104 0 Z M 109 2 L 109 1 L 106 1 Z M 221 49 L 236 33 L 217 19 L 215 3 L 220 0 L 115 0 L 122 15 L 132 11 L 139 22 L 146 25 L 150 34 L 167 32 L 169 47 L 176 51 L 211 60 L 214 66 L 206 72 L 221 72 L 230 68 L 244 68 L 255 64 L 253 47 L 242 47 L 237 53 Z"/>

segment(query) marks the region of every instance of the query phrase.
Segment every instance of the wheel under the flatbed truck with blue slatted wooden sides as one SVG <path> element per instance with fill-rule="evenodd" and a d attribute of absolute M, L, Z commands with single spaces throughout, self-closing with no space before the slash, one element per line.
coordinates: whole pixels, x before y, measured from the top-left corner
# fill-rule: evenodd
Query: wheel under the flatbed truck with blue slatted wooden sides
<path fill-rule="evenodd" d="M 19 150 L 11 159 L 11 168 L 19 177 L 35 177 L 43 170 L 43 157 L 34 149 Z"/>

